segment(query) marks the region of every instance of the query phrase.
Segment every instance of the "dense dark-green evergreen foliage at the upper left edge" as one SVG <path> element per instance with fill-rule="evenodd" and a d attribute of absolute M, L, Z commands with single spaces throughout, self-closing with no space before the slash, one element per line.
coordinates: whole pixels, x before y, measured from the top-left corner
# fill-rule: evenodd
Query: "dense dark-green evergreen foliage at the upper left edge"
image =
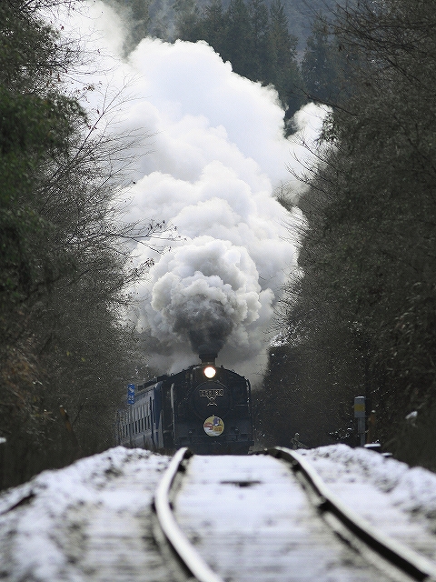
<path fill-rule="evenodd" d="M 14 336 L 11 310 L 50 286 L 70 261 L 46 250 L 51 225 L 35 206 L 42 165 L 63 156 L 81 107 L 56 91 L 54 76 L 71 55 L 62 54 L 54 30 L 31 5 L 0 6 L 0 333 Z M 35 50 L 34 50 L 35 47 Z"/>

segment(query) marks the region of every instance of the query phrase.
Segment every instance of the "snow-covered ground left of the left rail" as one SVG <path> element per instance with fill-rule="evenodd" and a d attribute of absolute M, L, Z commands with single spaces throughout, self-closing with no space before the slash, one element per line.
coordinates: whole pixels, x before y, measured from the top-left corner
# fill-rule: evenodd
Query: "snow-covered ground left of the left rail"
<path fill-rule="evenodd" d="M 0 579 L 165 579 L 151 501 L 168 457 L 116 447 L 0 497 Z"/>

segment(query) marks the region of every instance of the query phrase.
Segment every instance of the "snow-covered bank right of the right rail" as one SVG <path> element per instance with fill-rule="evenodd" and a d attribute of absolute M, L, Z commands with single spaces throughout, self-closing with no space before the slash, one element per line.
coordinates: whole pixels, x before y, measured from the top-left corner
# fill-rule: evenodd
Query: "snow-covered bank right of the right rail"
<path fill-rule="evenodd" d="M 298 451 L 348 507 L 386 535 L 436 560 L 436 475 L 346 445 Z"/>

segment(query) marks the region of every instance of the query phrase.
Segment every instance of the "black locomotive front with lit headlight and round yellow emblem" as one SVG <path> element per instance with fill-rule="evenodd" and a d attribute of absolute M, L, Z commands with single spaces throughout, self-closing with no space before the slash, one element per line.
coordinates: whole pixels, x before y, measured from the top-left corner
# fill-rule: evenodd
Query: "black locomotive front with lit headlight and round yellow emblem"
<path fill-rule="evenodd" d="M 248 380 L 223 366 L 215 355 L 173 377 L 171 407 L 175 448 L 199 455 L 246 454 L 253 445 Z"/>

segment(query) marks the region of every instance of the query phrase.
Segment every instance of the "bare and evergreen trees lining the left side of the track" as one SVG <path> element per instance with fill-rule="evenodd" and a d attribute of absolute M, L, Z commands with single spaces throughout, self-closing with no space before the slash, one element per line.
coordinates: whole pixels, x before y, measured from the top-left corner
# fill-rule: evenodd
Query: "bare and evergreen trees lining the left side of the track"
<path fill-rule="evenodd" d="M 112 445 L 134 352 L 119 314 L 141 273 L 112 202 L 128 137 L 66 92 L 83 59 L 41 16 L 60 4 L 0 3 L 0 487 Z"/>

